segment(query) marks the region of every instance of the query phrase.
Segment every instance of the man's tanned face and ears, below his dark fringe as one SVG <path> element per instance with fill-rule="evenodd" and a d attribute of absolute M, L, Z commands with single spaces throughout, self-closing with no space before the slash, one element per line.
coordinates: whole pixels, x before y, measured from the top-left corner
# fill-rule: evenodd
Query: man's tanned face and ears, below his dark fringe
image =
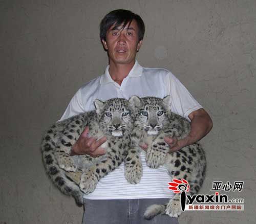
<path fill-rule="evenodd" d="M 106 32 L 106 41 L 102 40 L 105 50 L 108 51 L 110 64 L 132 64 L 135 62 L 142 40 L 139 41 L 139 28 L 135 20 L 124 28 L 120 25 L 110 27 Z"/>

